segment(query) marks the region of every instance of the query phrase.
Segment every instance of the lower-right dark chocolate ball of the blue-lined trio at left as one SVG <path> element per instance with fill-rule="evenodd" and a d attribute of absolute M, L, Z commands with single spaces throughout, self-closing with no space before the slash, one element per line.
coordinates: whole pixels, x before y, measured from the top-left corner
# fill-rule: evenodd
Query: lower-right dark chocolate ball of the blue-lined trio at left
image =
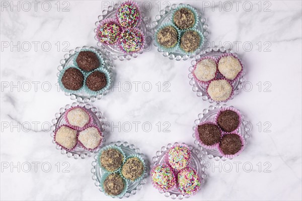
<path fill-rule="evenodd" d="M 107 78 L 105 73 L 100 71 L 94 71 L 87 77 L 86 85 L 90 90 L 101 90 L 107 85 Z"/>

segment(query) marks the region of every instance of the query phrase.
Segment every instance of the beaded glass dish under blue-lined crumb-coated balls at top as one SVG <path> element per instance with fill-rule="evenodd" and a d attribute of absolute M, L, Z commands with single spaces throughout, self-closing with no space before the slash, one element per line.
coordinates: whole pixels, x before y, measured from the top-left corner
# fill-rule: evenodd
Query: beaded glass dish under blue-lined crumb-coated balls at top
<path fill-rule="evenodd" d="M 183 4 L 179 4 L 179 5 L 183 5 Z M 168 23 L 168 22 L 171 22 L 171 17 L 173 15 L 173 12 L 179 5 L 173 4 L 171 6 L 167 6 L 165 9 L 160 11 L 160 15 L 155 16 L 156 21 L 154 21 L 152 23 L 153 28 L 151 30 L 153 40 L 155 40 L 156 30 L 161 25 L 163 25 L 165 23 Z M 175 59 L 176 61 L 180 61 L 181 59 L 187 60 L 188 58 L 193 58 L 196 54 L 199 54 L 202 51 L 202 49 L 205 47 L 205 45 L 207 44 L 207 36 L 209 35 L 209 32 L 207 31 L 208 25 L 205 24 L 206 19 L 204 17 L 202 17 L 202 14 L 196 8 L 194 8 L 194 9 L 197 11 L 197 15 L 198 15 L 198 19 L 199 19 L 198 24 L 196 26 L 196 29 L 198 31 L 200 31 L 204 36 L 203 47 L 197 49 L 195 51 L 195 53 L 191 54 L 191 55 L 183 54 L 183 53 L 181 53 L 180 50 L 177 50 L 175 52 L 163 52 L 160 48 L 158 48 L 158 51 L 162 52 L 163 56 L 169 57 L 169 59 L 171 59 L 171 60 Z M 155 47 L 157 47 L 156 43 L 154 43 L 154 45 L 155 45 Z"/>

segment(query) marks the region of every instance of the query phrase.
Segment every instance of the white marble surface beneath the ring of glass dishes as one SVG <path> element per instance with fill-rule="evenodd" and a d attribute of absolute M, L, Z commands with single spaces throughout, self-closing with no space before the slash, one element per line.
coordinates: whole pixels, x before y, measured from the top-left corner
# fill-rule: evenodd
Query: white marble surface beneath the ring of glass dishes
<path fill-rule="evenodd" d="M 220 2 L 221 11 L 219 7 L 213 8 L 212 1 L 187 2 L 200 10 L 204 8 L 209 25 L 209 40 L 213 44 L 221 45 L 225 41 L 241 42 L 238 53 L 247 66 L 246 79 L 253 86 L 250 92 L 241 91 L 228 102 L 228 105 L 233 105 L 246 114 L 247 119 L 253 123 L 250 143 L 239 157 L 229 160 L 233 167 L 231 172 L 223 169 L 219 172 L 219 168 L 211 166 L 207 171 L 206 184 L 200 192 L 190 197 L 190 200 L 301 200 L 301 2 L 261 2 L 259 11 L 259 3 L 255 1 L 251 2 L 253 9 L 250 12 L 244 10 L 249 9 L 250 2 L 237 3 L 238 11 L 233 1 L 231 10 L 229 5 Z M 37 3 L 35 11 L 34 3 L 30 2 L 31 9 L 26 11 L 26 3 L 1 2 L 2 200 L 110 199 L 98 190 L 91 178 L 93 158 L 74 160 L 61 155 L 52 144 L 49 132 L 43 132 L 41 126 L 46 122 L 44 125 L 47 129 L 59 108 L 72 103 L 63 92 L 57 91 L 55 85 L 59 60 L 66 53 L 62 48 L 67 45 L 67 50 L 83 45 L 95 46 L 94 23 L 103 10 L 102 6 L 113 3 L 115 2 L 51 1 L 51 9 L 46 12 L 48 3 L 43 6 L 42 2 Z M 146 15 L 153 21 L 159 13 L 159 5 L 164 8 L 167 4 L 181 2 L 151 3 L 153 8 L 146 12 Z M 20 10 L 11 4 L 20 4 Z M 62 8 L 67 5 L 69 11 L 62 12 Z M 215 5 L 219 5 L 219 2 L 215 2 Z M 268 6 L 270 11 L 264 12 Z M 18 41 L 20 51 L 18 47 L 11 49 Z M 45 46 L 41 47 L 43 42 Z M 27 51 L 29 43 L 31 48 Z M 37 44 L 36 50 L 34 43 Z M 249 43 L 253 45 L 251 51 L 243 49 L 244 43 L 246 48 L 249 48 Z M 51 44 L 48 52 L 47 44 Z M 270 52 L 264 51 L 264 48 Z M 128 127 L 125 127 L 118 132 L 118 129 L 114 128 L 107 141 L 121 140 L 133 143 L 149 160 L 152 160 L 157 150 L 168 143 L 177 141 L 193 144 L 194 120 L 211 104 L 204 102 L 192 91 L 187 77 L 190 62 L 190 59 L 171 61 L 155 48 L 130 61 L 114 61 L 115 84 L 121 82 L 122 86 L 125 83 L 123 86 L 127 89 L 126 84 L 131 82 L 132 90 L 126 92 L 115 88 L 93 105 L 104 112 L 109 122 L 114 125 L 118 122 L 121 122 L 121 125 L 130 122 L 132 129 L 126 132 Z M 35 81 L 39 82 L 37 91 L 33 83 Z M 135 81 L 141 82 L 137 92 L 133 83 Z M 147 81 L 152 83 L 152 90 L 149 92 L 145 92 L 141 87 L 141 84 Z M 163 88 L 158 92 L 156 83 L 163 84 L 165 81 L 171 84 L 170 92 L 163 92 Z M 20 91 L 18 87 L 11 88 L 12 85 L 18 85 L 18 82 Z M 28 82 L 31 83 L 31 89 L 27 92 Z M 51 84 L 50 91 L 42 90 L 43 82 L 46 83 L 46 90 L 47 83 Z M 261 92 L 259 84 L 257 85 L 259 82 L 262 84 Z M 266 85 L 264 82 L 267 82 Z M 268 83 L 271 91 L 265 92 Z M 140 122 L 137 131 L 133 122 Z M 141 128 L 144 122 L 152 125 L 150 132 Z M 156 125 L 158 122 L 162 124 L 161 132 Z M 164 122 L 171 124 L 170 132 L 163 132 Z M 262 124 L 260 132 L 257 126 L 259 122 Z M 263 125 L 265 122 L 271 124 L 271 132 L 264 132 L 268 125 Z M 28 131 L 29 126 L 31 130 Z M 241 162 L 238 172 L 234 163 L 236 161 Z M 63 165 L 63 162 L 69 164 L 69 172 L 63 172 L 62 168 L 67 164 Z M 212 164 L 213 161 L 209 162 Z M 249 165 L 246 169 L 243 167 L 246 162 L 253 166 L 250 172 L 246 171 L 249 170 Z M 31 169 L 26 172 L 28 164 Z M 46 172 L 48 164 L 51 169 Z M 267 169 L 270 172 L 264 170 L 268 167 L 267 164 L 270 164 Z M 16 167 L 12 168 L 12 165 Z M 214 165 L 219 166 L 219 162 Z M 221 168 L 228 169 L 221 161 L 220 165 Z M 160 194 L 148 180 L 142 190 L 128 199 L 171 198 Z"/>

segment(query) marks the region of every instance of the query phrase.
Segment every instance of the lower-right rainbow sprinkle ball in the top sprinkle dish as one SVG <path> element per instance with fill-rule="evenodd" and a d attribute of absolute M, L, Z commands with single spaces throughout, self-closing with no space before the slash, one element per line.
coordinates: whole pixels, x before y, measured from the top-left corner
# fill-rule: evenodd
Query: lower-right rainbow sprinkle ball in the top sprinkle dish
<path fill-rule="evenodd" d="M 143 36 L 138 29 L 127 28 L 121 33 L 120 43 L 125 52 L 138 52 L 143 46 Z"/>

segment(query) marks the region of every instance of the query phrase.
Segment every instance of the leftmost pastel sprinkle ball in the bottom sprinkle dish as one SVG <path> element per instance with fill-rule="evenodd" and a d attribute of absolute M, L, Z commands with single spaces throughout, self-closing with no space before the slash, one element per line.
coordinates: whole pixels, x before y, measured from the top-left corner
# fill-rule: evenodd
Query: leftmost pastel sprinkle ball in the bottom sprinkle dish
<path fill-rule="evenodd" d="M 167 190 L 175 185 L 173 170 L 168 165 L 158 165 L 151 172 L 151 178 L 155 185 Z"/>

